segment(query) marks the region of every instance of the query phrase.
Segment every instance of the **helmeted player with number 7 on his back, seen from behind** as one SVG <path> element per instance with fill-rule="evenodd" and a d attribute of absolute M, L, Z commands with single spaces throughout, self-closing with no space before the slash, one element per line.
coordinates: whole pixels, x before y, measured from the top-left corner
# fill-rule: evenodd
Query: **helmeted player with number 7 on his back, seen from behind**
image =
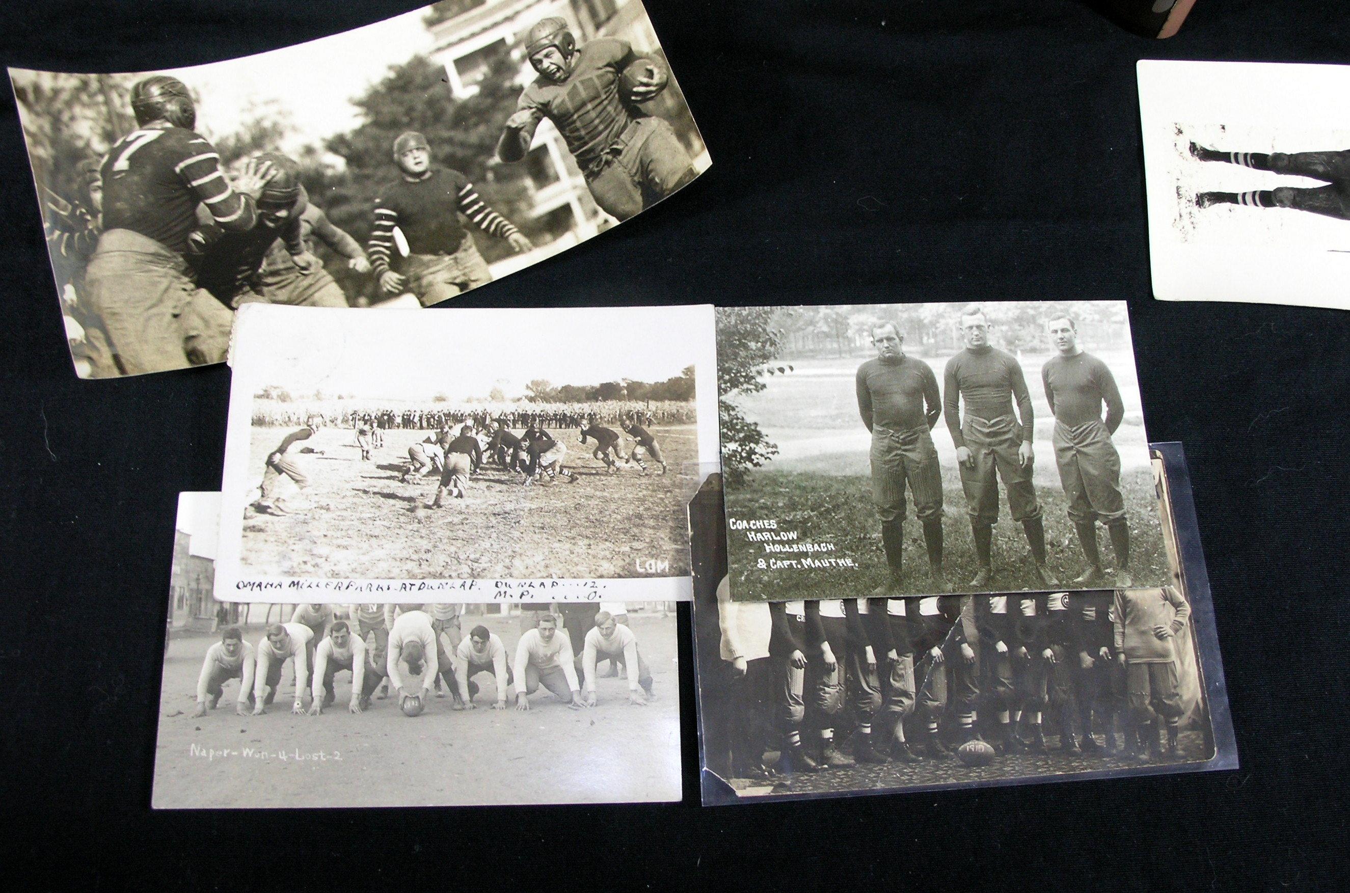
<path fill-rule="evenodd" d="M 138 81 L 131 111 L 138 129 L 113 144 L 100 169 L 104 232 L 85 272 L 85 298 L 122 367 L 136 375 L 190 366 L 198 333 L 189 310 L 221 310 L 211 308 L 215 298 L 197 289 L 184 259 L 197 205 L 221 229 L 251 229 L 274 171 L 251 166 L 231 186 L 215 147 L 193 132 L 197 111 L 177 78 Z"/>

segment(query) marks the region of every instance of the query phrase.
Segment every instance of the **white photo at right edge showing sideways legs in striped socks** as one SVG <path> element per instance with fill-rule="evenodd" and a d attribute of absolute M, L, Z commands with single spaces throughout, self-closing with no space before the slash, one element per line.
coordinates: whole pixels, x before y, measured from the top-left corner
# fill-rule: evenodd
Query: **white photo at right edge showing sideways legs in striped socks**
<path fill-rule="evenodd" d="M 1139 62 L 1153 291 L 1350 308 L 1350 66 Z"/>

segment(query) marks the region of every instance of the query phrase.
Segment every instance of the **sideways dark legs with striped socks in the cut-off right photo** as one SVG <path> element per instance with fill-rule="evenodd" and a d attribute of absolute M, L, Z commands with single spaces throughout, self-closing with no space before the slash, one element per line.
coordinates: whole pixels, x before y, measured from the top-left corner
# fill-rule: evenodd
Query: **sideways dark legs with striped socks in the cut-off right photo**
<path fill-rule="evenodd" d="M 1242 193 L 1207 192 L 1195 197 L 1200 208 L 1242 205 L 1245 208 L 1292 208 L 1315 214 L 1350 220 L 1350 151 L 1328 152 L 1220 152 L 1191 143 L 1191 155 L 1203 162 L 1228 162 L 1276 174 L 1310 177 L 1326 186 L 1257 189 Z"/>

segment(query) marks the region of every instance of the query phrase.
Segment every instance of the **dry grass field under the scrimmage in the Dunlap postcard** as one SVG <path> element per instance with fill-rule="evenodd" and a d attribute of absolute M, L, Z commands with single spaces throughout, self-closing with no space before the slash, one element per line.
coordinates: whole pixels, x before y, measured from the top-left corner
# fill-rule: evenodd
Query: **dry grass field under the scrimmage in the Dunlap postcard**
<path fill-rule="evenodd" d="M 251 480 L 262 480 L 269 452 L 293 429 L 254 428 Z M 296 495 L 282 479 L 288 505 L 302 511 L 251 514 L 243 522 L 244 571 L 323 579 L 622 579 L 688 573 L 684 490 L 693 490 L 698 448 L 694 425 L 653 428 L 670 473 L 648 463 L 606 475 L 578 442 L 576 432 L 552 432 L 567 446 L 576 483 L 522 487 L 522 476 L 485 464 L 464 499 L 425 506 L 439 473 L 400 483 L 408 448 L 428 432 L 387 430 L 371 461 L 348 429 L 321 429 L 290 453 L 310 486 Z M 297 453 L 309 445 L 316 456 Z M 687 468 L 690 478 L 682 475 Z M 252 496 L 256 490 L 252 491 Z M 250 499 L 252 498 L 250 496 Z"/>

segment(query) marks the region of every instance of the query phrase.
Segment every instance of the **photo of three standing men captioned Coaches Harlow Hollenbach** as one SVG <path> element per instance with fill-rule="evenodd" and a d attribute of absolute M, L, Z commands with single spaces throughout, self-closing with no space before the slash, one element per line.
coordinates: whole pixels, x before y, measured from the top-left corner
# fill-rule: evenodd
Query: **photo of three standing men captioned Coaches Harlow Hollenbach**
<path fill-rule="evenodd" d="M 1123 301 L 720 308 L 737 602 L 1161 585 Z"/>

